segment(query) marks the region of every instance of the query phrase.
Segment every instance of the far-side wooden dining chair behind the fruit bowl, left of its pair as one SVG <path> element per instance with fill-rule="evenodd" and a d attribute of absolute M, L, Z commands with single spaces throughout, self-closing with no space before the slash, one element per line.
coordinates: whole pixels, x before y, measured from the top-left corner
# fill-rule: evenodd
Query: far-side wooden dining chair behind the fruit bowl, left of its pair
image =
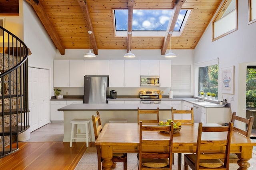
<path fill-rule="evenodd" d="M 148 116 L 148 115 L 155 115 L 155 119 L 140 119 L 140 116 L 142 116 L 142 114 L 144 114 L 144 116 Z M 138 107 L 138 124 L 140 123 L 140 121 L 142 123 L 158 123 L 159 122 L 159 108 L 157 108 L 156 110 L 140 110 L 140 108 Z"/>

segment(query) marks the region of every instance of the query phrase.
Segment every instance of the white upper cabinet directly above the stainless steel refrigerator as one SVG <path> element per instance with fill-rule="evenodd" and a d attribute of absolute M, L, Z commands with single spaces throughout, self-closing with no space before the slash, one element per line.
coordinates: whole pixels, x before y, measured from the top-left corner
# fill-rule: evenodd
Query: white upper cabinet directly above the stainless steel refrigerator
<path fill-rule="evenodd" d="M 85 60 L 85 75 L 109 75 L 109 60 Z"/>

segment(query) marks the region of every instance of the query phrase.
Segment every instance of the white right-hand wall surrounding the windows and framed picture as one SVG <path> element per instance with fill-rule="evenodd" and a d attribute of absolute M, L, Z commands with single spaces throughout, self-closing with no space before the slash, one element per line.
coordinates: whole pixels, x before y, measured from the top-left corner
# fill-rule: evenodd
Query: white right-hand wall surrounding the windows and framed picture
<path fill-rule="evenodd" d="M 224 99 L 228 99 L 232 112 L 236 111 L 237 115 L 245 117 L 246 65 L 249 63 L 255 65 L 256 62 L 256 22 L 248 25 L 248 1 L 238 0 L 237 28 L 235 32 L 212 42 L 212 22 L 210 22 L 194 51 L 194 63 L 219 57 L 219 82 L 220 69 L 234 65 L 234 94 L 221 93 L 219 85 L 218 96 L 223 95 Z M 234 97 L 234 101 L 231 101 L 231 97 Z"/>

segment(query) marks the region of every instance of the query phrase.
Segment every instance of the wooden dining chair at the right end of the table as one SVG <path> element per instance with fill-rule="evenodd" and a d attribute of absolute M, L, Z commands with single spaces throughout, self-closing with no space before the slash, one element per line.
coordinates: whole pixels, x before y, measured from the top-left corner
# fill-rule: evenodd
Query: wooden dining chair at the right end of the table
<path fill-rule="evenodd" d="M 245 125 L 247 125 L 246 130 L 242 130 L 242 129 L 240 129 L 238 127 L 235 127 L 235 126 L 233 126 L 233 130 L 235 132 L 238 132 L 238 133 L 246 136 L 247 138 L 250 138 L 250 136 L 251 136 L 253 121 L 254 121 L 253 116 L 250 116 L 249 119 L 246 119 L 246 118 L 243 118 L 243 117 L 236 116 L 236 112 L 232 113 L 231 122 L 233 123 L 233 125 L 235 125 L 235 123 L 237 123 L 237 122 L 242 122 Z M 238 160 L 239 160 L 239 158 L 238 158 L 237 154 L 231 153 L 229 155 L 229 163 L 237 163 Z"/>

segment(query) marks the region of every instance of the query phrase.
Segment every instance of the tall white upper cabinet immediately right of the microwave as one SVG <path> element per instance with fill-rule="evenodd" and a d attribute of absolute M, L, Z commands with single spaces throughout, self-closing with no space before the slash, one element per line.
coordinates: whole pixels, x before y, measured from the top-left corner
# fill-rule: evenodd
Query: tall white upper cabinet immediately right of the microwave
<path fill-rule="evenodd" d="M 160 60 L 159 62 L 159 87 L 171 87 L 172 61 Z"/>

